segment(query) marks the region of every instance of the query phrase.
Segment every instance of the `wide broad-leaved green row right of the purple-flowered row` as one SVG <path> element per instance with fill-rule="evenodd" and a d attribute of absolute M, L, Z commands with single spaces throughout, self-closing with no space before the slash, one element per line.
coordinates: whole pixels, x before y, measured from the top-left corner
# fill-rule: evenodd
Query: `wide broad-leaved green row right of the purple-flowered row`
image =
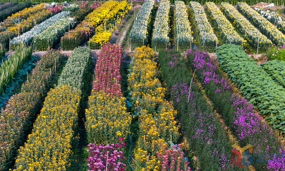
<path fill-rule="evenodd" d="M 248 57 L 243 47 L 224 44 L 217 47 L 221 68 L 240 88 L 240 93 L 270 121 L 273 129 L 285 133 L 285 89 Z"/>

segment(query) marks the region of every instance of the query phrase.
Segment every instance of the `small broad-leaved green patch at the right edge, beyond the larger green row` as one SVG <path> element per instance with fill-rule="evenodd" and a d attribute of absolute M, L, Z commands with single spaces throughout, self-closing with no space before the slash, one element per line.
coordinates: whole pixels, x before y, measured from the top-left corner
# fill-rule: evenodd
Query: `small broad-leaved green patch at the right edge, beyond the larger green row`
<path fill-rule="evenodd" d="M 285 87 L 285 61 L 268 61 L 260 64 L 262 68 L 271 75 L 274 79 L 276 79 L 277 83 L 280 83 Z"/>

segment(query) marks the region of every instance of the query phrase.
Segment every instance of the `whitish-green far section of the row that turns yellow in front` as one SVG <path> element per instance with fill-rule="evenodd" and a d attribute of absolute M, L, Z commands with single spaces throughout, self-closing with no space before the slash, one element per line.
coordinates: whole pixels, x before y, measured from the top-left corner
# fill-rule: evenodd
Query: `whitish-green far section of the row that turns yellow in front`
<path fill-rule="evenodd" d="M 58 85 L 70 85 L 82 90 L 83 79 L 90 65 L 91 50 L 88 47 L 77 47 L 68 58 L 62 70 Z"/>

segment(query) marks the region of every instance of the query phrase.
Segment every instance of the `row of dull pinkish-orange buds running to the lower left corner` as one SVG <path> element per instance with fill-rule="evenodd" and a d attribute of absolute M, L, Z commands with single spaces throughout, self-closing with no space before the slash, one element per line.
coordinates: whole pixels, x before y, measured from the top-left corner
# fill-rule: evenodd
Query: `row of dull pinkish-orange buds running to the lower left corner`
<path fill-rule="evenodd" d="M 21 92 L 13 95 L 5 109 L 1 109 L 0 144 L 3 151 L 0 153 L 0 170 L 7 170 L 9 163 L 13 161 L 11 157 L 14 157 L 13 154 L 18 150 L 29 130 L 31 119 L 41 107 L 43 98 L 49 89 L 50 71 L 55 72 L 55 59 L 57 68 L 59 68 L 60 52 L 51 50 L 44 54 L 36 63 L 33 74 L 29 75 L 29 81 L 22 85 Z"/>

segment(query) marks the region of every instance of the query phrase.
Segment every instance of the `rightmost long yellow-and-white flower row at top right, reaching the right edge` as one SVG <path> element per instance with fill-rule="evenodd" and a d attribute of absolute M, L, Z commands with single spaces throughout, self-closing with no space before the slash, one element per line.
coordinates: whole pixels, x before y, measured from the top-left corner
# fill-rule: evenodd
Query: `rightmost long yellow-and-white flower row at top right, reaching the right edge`
<path fill-rule="evenodd" d="M 248 4 L 239 2 L 237 9 L 240 13 L 243 13 L 252 25 L 258 28 L 263 35 L 270 39 L 276 45 L 285 44 L 285 35 L 282 34 L 273 24 L 271 24 L 267 19 L 262 17 L 256 11 L 254 11 Z"/>

